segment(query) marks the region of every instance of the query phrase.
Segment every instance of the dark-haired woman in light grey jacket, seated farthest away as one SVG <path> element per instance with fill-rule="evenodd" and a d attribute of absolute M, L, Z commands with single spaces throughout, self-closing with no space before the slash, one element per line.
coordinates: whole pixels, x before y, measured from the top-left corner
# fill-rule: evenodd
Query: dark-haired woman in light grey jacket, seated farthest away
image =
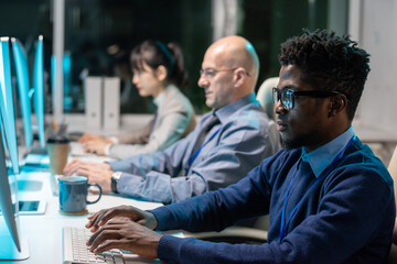
<path fill-rule="evenodd" d="M 179 45 L 144 41 L 131 53 L 131 68 L 139 95 L 154 98 L 154 118 L 142 129 L 118 136 L 86 133 L 79 139 L 86 152 L 121 160 L 162 151 L 194 129 L 193 107 L 180 91 L 187 82 L 187 74 Z"/>

